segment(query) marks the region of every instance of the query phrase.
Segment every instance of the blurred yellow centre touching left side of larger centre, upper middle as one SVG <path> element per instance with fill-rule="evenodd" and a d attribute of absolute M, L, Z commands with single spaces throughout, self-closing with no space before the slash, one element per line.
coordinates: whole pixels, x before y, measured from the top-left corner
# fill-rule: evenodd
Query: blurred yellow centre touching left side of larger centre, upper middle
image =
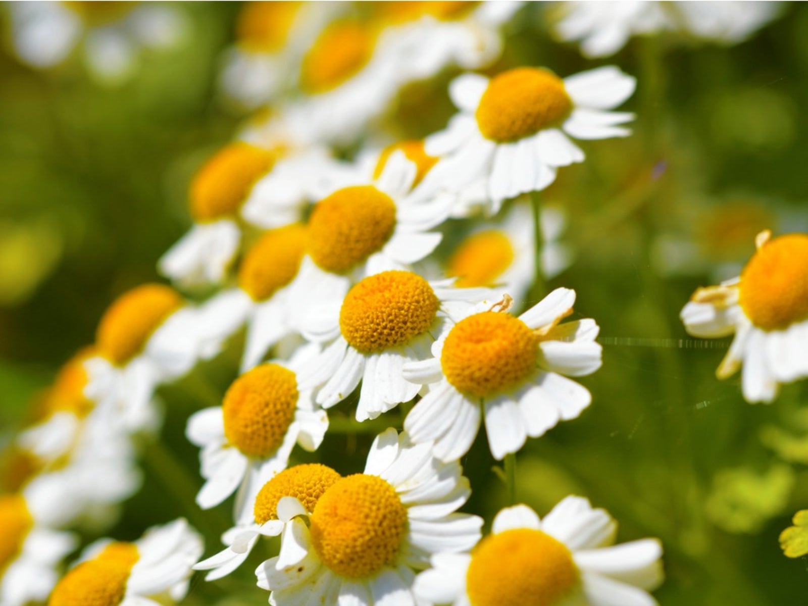
<path fill-rule="evenodd" d="M 305 251 L 305 227 L 271 229 L 247 252 L 238 270 L 238 285 L 254 301 L 266 301 L 297 276 Z"/>

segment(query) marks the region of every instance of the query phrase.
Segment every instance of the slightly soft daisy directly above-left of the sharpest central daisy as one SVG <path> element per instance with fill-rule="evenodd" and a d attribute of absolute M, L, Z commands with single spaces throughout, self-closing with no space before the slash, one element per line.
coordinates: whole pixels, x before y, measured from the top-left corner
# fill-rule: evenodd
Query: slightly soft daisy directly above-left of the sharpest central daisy
<path fill-rule="evenodd" d="M 419 167 L 401 151 L 378 179 L 358 177 L 314 205 L 291 309 L 303 325 L 316 301 L 341 301 L 351 284 L 380 271 L 408 269 L 442 238 L 430 231 L 447 217 L 451 200 L 413 190 Z"/>

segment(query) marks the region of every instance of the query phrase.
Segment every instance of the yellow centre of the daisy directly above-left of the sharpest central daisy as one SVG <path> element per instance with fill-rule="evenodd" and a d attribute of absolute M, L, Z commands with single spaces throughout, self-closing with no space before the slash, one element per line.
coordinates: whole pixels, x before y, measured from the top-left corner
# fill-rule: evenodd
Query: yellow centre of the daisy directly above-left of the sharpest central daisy
<path fill-rule="evenodd" d="M 396 227 L 393 199 L 372 185 L 344 187 L 323 198 L 309 219 L 309 255 L 319 267 L 346 273 L 385 246 Z"/>

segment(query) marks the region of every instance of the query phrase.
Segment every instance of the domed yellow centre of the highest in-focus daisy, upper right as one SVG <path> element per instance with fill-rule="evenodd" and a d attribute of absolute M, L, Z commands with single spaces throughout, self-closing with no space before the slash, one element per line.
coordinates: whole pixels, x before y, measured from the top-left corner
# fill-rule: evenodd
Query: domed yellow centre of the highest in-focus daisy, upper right
<path fill-rule="evenodd" d="M 561 78 L 546 69 L 518 67 L 491 78 L 476 116 L 483 137 L 507 143 L 558 124 L 571 111 Z"/>

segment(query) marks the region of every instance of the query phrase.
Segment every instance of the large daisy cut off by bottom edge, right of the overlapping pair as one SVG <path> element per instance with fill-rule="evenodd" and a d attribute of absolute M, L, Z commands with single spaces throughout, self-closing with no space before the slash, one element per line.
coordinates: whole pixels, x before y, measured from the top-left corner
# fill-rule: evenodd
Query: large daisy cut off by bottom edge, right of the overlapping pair
<path fill-rule="evenodd" d="M 415 579 L 426 604 L 653 606 L 663 581 L 656 539 L 614 544 L 617 523 L 587 499 L 567 497 L 544 520 L 507 507 L 471 553 L 436 553 Z"/>

